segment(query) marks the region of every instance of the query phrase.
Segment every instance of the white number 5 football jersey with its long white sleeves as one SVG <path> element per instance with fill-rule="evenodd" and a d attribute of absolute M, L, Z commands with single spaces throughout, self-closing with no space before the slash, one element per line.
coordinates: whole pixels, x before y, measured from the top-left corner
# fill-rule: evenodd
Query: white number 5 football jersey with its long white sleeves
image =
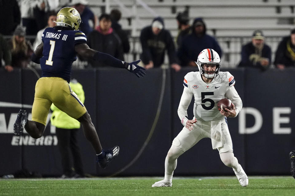
<path fill-rule="evenodd" d="M 195 98 L 194 115 L 200 121 L 221 120 L 225 116 L 221 115 L 217 108 L 217 103 L 223 98 L 229 98 L 236 107 L 236 112 L 242 109 L 242 100 L 234 89 L 234 76 L 229 72 L 219 72 L 209 84 L 202 80 L 200 72 L 190 72 L 184 77 L 183 95 L 181 97 L 178 115 L 182 119 L 187 116 L 187 107 L 192 96 Z"/>

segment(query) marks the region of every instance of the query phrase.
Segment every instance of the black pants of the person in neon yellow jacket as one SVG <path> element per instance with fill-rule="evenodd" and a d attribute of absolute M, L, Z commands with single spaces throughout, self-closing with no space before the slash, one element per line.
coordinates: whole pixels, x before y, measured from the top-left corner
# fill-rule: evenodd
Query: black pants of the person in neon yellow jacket
<path fill-rule="evenodd" d="M 73 176 L 72 165 L 74 166 L 76 175 L 84 177 L 81 152 L 77 141 L 78 130 L 79 129 L 56 128 L 58 147 L 61 152 L 63 174 L 67 177 Z M 71 161 L 71 154 L 73 156 L 73 164 Z"/>

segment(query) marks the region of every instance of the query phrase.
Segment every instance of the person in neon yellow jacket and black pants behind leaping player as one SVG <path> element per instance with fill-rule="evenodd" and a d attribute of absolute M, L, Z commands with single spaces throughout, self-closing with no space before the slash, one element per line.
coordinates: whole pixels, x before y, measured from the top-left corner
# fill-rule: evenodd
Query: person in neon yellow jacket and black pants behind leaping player
<path fill-rule="evenodd" d="M 80 102 L 84 104 L 85 95 L 82 85 L 77 82 L 77 80 L 73 79 L 70 81 L 69 86 L 71 91 L 73 91 L 71 94 L 79 98 Z M 58 109 L 54 104 L 51 105 L 50 109 L 53 111 L 50 122 L 51 125 L 56 127 L 58 148 L 61 152 L 61 164 L 63 169 L 61 178 L 83 178 L 85 174 L 77 141 L 80 123 Z M 71 154 L 73 156 L 73 161 L 71 161 Z M 76 173 L 73 172 L 72 165 Z"/>

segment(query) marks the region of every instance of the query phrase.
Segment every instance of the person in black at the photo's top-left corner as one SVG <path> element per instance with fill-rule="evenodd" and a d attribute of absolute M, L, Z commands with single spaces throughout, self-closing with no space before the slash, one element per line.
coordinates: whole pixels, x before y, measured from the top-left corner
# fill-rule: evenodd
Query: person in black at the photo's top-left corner
<path fill-rule="evenodd" d="M 18 2 L 16 0 L 0 1 L 0 18 L 0 33 L 12 35 L 15 28 L 21 23 Z"/>

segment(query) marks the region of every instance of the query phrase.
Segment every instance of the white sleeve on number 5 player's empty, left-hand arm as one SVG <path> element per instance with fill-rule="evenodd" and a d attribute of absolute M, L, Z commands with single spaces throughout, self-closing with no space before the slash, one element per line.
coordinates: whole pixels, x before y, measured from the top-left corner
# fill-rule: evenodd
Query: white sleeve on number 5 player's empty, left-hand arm
<path fill-rule="evenodd" d="M 187 108 L 191 103 L 192 97 L 193 97 L 193 94 L 190 92 L 190 90 L 187 87 L 184 87 L 183 93 L 179 102 L 178 110 L 177 110 L 179 119 L 181 121 L 183 121 L 183 118 L 187 118 Z"/>

